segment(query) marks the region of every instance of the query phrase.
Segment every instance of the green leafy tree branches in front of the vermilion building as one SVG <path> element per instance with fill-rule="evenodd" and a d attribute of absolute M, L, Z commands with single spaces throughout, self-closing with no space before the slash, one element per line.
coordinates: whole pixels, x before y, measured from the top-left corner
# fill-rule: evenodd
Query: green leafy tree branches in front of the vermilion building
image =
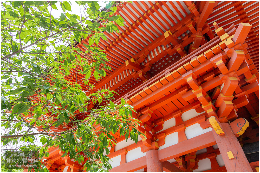
<path fill-rule="evenodd" d="M 133 107 L 124 99 L 115 105 L 114 91 L 94 89 L 111 70 L 97 45 L 106 40 L 104 31 L 119 32 L 124 20 L 114 15 L 115 2 L 106 6 L 110 10 L 96 1 L 76 3 L 81 16 L 70 14 L 67 1 L 1 2 L 1 145 L 39 150 L 41 158 L 59 146 L 87 171 L 104 171 L 111 169 L 104 149 L 108 153 L 116 142 L 113 134 L 135 142 L 140 135 Z M 75 46 L 83 38 L 85 51 Z M 35 171 L 47 171 L 45 161 Z"/>

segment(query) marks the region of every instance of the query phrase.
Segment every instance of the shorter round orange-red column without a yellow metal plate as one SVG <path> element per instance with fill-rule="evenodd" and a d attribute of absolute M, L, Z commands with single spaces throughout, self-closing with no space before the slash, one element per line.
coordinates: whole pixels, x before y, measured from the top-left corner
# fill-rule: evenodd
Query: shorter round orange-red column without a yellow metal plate
<path fill-rule="evenodd" d="M 159 161 L 158 150 L 149 150 L 146 153 L 146 171 L 162 172 L 162 163 Z"/>

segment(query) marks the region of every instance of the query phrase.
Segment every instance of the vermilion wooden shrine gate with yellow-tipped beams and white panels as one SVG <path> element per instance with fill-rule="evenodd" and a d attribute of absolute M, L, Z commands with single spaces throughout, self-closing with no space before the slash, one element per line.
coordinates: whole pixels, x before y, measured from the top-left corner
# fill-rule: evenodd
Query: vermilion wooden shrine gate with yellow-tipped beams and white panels
<path fill-rule="evenodd" d="M 95 89 L 126 99 L 146 138 L 116 133 L 110 171 L 259 172 L 243 151 L 259 141 L 259 1 L 133 1 L 116 14 L 125 26 L 100 40 L 112 71 Z M 49 153 L 50 172 L 84 172 Z"/>

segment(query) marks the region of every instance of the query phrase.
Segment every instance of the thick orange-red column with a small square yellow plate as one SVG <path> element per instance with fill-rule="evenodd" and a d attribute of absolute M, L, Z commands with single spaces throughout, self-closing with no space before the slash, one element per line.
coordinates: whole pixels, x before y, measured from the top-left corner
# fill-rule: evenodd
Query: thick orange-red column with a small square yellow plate
<path fill-rule="evenodd" d="M 228 123 L 221 123 L 224 135 L 212 128 L 219 151 L 228 172 L 253 172 L 245 153 Z"/>

